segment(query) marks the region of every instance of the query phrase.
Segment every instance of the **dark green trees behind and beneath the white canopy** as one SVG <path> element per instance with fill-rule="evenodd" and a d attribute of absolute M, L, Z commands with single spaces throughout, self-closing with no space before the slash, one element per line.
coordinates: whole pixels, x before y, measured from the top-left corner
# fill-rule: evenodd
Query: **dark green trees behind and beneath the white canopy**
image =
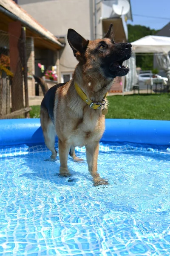
<path fill-rule="evenodd" d="M 158 30 L 150 29 L 150 27 L 141 25 L 127 25 L 128 41 L 136 41 L 146 35 L 155 35 Z M 136 55 L 136 66 L 142 70 L 153 70 L 153 55 Z"/>

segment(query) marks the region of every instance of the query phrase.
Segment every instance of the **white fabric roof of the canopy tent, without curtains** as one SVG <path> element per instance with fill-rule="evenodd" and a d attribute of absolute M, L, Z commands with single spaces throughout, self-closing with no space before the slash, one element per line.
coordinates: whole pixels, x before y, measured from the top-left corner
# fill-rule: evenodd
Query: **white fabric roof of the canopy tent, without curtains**
<path fill-rule="evenodd" d="M 170 52 L 170 37 L 147 35 L 132 44 L 135 53 L 168 53 Z"/>

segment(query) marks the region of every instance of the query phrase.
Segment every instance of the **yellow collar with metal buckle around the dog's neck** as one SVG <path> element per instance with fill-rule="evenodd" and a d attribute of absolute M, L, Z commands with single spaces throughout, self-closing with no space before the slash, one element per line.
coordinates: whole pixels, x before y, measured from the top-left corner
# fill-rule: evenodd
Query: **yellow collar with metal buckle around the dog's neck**
<path fill-rule="evenodd" d="M 89 105 L 90 108 L 99 109 L 99 108 L 101 108 L 102 106 L 104 106 L 104 108 L 105 108 L 105 103 L 106 103 L 106 102 L 105 102 L 105 97 L 107 96 L 108 93 L 105 94 L 105 96 L 104 96 L 104 98 L 103 98 L 103 100 L 102 100 L 102 102 L 104 102 L 104 103 L 102 103 L 102 102 L 92 102 L 92 100 L 89 99 L 89 98 L 85 95 L 85 93 L 82 91 L 82 89 L 79 87 L 79 85 L 78 85 L 77 83 L 75 83 L 74 86 L 75 86 L 75 89 L 76 89 L 77 93 L 79 94 L 79 96 L 82 98 L 82 100 L 83 100 L 86 104 Z"/>

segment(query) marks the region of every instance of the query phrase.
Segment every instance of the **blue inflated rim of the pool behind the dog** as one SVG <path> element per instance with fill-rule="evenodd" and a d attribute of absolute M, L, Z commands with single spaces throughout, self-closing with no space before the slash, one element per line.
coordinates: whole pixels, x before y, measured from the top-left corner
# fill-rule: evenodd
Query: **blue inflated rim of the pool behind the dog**
<path fill-rule="evenodd" d="M 103 143 L 135 143 L 170 147 L 170 121 L 106 119 Z M 56 139 L 57 141 L 57 139 Z M 0 147 L 44 143 L 40 119 L 0 120 Z"/>

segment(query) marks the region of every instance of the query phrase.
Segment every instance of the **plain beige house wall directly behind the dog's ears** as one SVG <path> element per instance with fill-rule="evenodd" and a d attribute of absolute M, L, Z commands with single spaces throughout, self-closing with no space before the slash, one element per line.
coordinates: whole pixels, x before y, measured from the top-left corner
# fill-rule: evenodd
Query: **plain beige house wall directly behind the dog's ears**
<path fill-rule="evenodd" d="M 55 36 L 66 37 L 72 28 L 86 39 L 94 39 L 92 0 L 18 0 L 18 4 Z M 100 30 L 99 33 L 102 34 Z M 76 65 L 73 51 L 66 43 L 60 51 L 60 72 L 72 72 Z"/>

